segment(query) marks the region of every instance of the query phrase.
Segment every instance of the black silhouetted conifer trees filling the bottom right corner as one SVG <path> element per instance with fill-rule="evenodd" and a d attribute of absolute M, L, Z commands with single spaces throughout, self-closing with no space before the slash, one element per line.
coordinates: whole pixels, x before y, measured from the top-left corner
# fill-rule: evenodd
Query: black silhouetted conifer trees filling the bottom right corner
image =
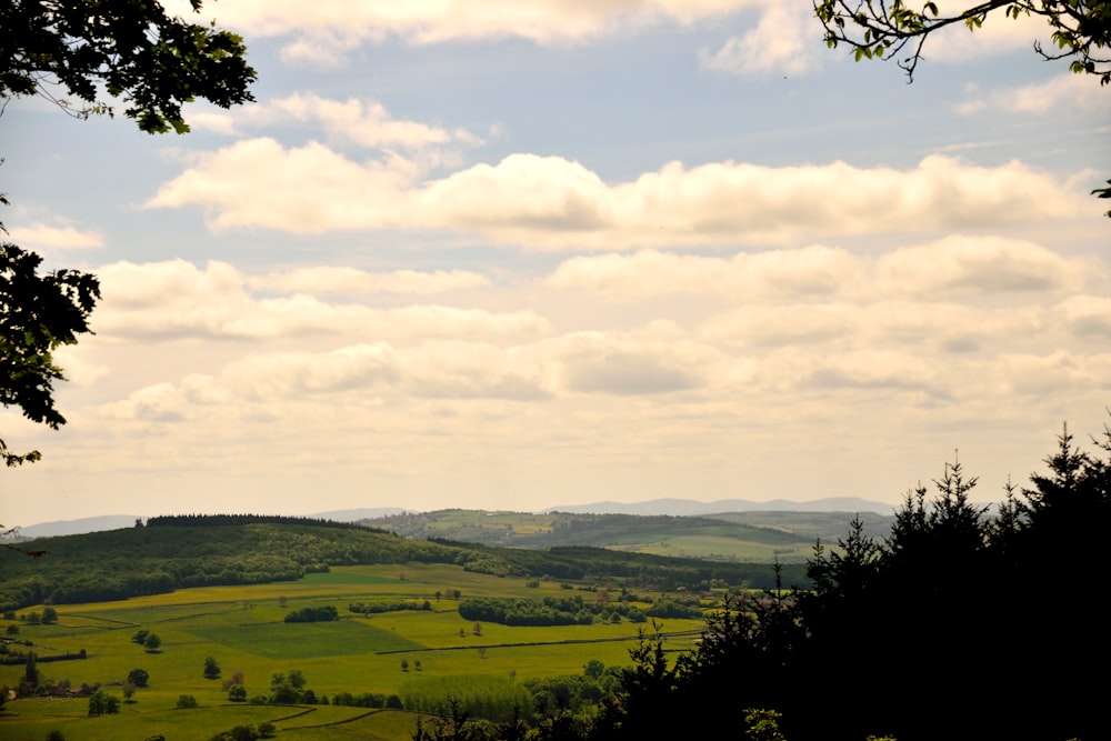
<path fill-rule="evenodd" d="M 1111 659 L 1091 589 L 1111 522 L 1111 428 L 1095 443 L 1108 458 L 1080 451 L 1065 429 L 1048 472 L 1021 494 L 1008 487 L 997 520 L 971 503 L 975 478 L 948 463 L 932 499 L 923 487 L 908 494 L 883 542 L 857 521 L 833 552 L 819 544 L 812 590 L 731 600 L 698 649 L 673 662 L 659 634 L 643 637 L 627 697 L 594 738 L 753 738 L 760 729 L 794 741 L 1100 737 L 1101 690 L 1088 670 Z M 1063 553 L 1067 564 L 1050 558 Z M 834 681 L 814 681 L 831 668 Z M 923 712 L 939 677 L 944 711 Z M 741 727 L 671 712 L 695 705 L 781 715 L 753 725 L 749 713 Z"/>

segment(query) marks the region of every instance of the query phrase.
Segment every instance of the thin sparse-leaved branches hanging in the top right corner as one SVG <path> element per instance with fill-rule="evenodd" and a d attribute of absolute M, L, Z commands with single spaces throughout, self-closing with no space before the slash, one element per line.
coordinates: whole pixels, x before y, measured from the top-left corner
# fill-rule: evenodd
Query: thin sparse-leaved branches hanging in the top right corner
<path fill-rule="evenodd" d="M 1111 3 L 1105 0 L 985 0 L 945 13 L 932 1 L 914 10 L 904 0 L 814 0 L 814 11 L 830 48 L 844 43 L 857 61 L 894 58 L 911 79 L 925 40 L 940 29 L 964 26 L 974 31 L 995 11 L 1015 20 L 1039 16 L 1052 29 L 1057 50 L 1047 51 L 1035 43 L 1038 53 L 1050 60 L 1071 59 L 1073 72 L 1095 74 L 1101 84 L 1111 82 Z M 898 59 L 904 49 L 910 56 Z"/>

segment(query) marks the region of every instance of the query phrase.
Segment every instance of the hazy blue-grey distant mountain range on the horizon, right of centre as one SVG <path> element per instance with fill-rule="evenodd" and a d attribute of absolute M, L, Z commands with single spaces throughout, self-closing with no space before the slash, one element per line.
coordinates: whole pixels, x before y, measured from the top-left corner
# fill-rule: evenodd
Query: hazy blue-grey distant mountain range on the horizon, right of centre
<path fill-rule="evenodd" d="M 673 514 L 697 517 L 722 512 L 875 512 L 892 514 L 893 504 L 873 502 L 855 497 L 829 497 L 808 502 L 792 502 L 773 499 L 770 502 L 752 502 L 747 499 L 719 499 L 699 502 L 693 499 L 651 499 L 643 502 L 592 502 L 590 504 L 563 504 L 549 507 L 543 512 L 572 512 L 577 514 Z"/>

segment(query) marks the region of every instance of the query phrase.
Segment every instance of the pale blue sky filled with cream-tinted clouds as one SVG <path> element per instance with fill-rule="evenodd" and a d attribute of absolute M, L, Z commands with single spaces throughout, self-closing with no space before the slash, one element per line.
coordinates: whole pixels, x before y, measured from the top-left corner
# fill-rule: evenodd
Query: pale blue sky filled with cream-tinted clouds
<path fill-rule="evenodd" d="M 1111 89 L 1037 19 L 912 84 L 809 2 L 221 0 L 257 102 L 0 116 L 8 239 L 96 273 L 0 522 L 998 501 L 1111 407 Z M 122 109 L 122 107 L 120 107 Z"/>

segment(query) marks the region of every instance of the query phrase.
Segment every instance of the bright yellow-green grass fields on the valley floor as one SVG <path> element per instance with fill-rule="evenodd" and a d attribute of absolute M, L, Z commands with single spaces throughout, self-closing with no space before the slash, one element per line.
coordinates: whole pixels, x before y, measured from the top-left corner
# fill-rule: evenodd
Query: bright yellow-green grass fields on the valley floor
<path fill-rule="evenodd" d="M 340 692 L 394 694 L 414 683 L 444 678 L 487 675 L 524 681 L 579 674 L 591 659 L 607 665 L 629 663 L 638 630 L 630 623 L 511 628 L 482 624 L 481 634 L 456 611 L 447 595 L 565 597 L 557 583 L 527 587 L 520 579 L 464 572 L 453 565 L 344 567 L 314 573 L 297 582 L 251 587 L 210 587 L 123 602 L 58 607 L 58 624 L 16 625 L 9 638 L 31 641 L 40 657 L 82 649 L 87 659 L 38 664 L 43 680 L 73 687 L 101 683 L 121 697 L 120 682 L 132 669 L 150 674 L 134 702 L 116 715 L 88 718 L 87 698 L 11 700 L 0 713 L 0 741 L 41 741 L 53 730 L 68 741 L 142 741 L 209 739 L 241 723 L 274 723 L 282 739 L 410 738 L 414 715 L 403 711 L 334 705 L 251 705 L 229 703 L 220 679 L 202 675 L 207 657 L 214 658 L 222 678 L 242 672 L 248 697 L 268 694 L 276 672 L 299 670 L 318 697 Z M 437 598 L 437 593 L 440 597 Z M 582 592 L 584 599 L 594 599 Z M 428 600 L 432 610 L 376 613 L 349 612 L 350 602 Z M 341 620 L 286 623 L 283 618 L 306 607 L 334 605 Z M 41 607 L 22 611 L 41 611 Z M 669 649 L 693 645 L 699 620 L 669 620 Z M 160 650 L 147 652 L 133 643 L 138 630 L 157 633 Z M 13 645 L 29 650 L 23 645 Z M 402 660 L 408 669 L 402 669 Z M 420 662 L 420 671 L 416 670 Z M 0 667 L 0 685 L 17 687 L 23 665 Z M 179 695 L 190 694 L 198 708 L 178 710 Z"/>

